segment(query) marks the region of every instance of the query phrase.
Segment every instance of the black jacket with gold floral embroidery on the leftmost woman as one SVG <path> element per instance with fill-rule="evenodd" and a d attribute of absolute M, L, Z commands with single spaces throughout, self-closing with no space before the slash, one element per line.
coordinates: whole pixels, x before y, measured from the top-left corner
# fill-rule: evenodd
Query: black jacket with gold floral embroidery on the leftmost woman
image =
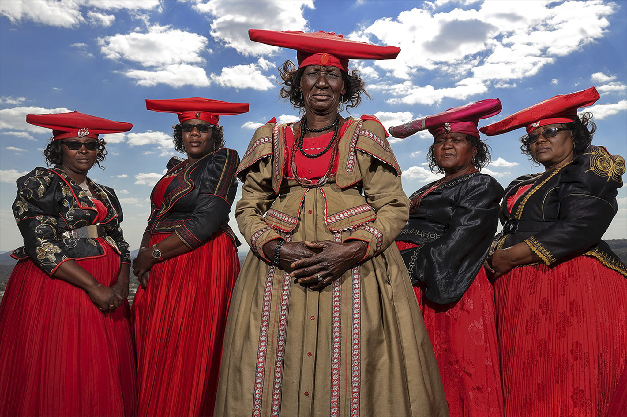
<path fill-rule="evenodd" d="M 129 244 L 124 240 L 120 223 L 122 208 L 112 188 L 87 183 L 107 208 L 107 216 L 100 221 L 104 239 L 120 254 L 122 263 L 130 263 Z M 24 246 L 15 249 L 16 259 L 30 257 L 48 274 L 69 259 L 97 258 L 105 251 L 92 238 L 64 238 L 64 232 L 95 224 L 97 209 L 92 199 L 63 169 L 35 168 L 19 178 L 18 195 L 13 203 L 13 214 L 24 238 Z"/>

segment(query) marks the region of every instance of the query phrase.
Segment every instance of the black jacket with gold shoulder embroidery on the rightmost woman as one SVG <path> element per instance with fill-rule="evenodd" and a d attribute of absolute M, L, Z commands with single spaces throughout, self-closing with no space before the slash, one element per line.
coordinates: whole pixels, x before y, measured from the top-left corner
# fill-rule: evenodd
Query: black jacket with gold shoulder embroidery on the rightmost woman
<path fill-rule="evenodd" d="M 621 156 L 591 145 L 561 167 L 515 179 L 505 189 L 496 248 L 524 241 L 547 265 L 585 255 L 627 276 L 624 263 L 601 240 L 618 210 L 624 171 Z M 533 185 L 510 213 L 507 199 L 526 184 Z"/>

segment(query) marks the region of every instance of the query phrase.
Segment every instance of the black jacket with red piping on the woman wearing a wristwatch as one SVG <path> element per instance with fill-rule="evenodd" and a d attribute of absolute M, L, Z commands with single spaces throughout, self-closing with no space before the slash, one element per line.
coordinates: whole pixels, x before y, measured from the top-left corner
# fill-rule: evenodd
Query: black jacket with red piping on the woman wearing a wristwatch
<path fill-rule="evenodd" d="M 151 213 L 146 230 L 150 234 L 176 233 L 191 249 L 201 246 L 218 230 L 239 244 L 228 225 L 229 211 L 237 191 L 235 171 L 238 164 L 237 151 L 228 148 L 219 149 L 194 163 L 172 158 L 167 173 L 159 181 L 174 178 L 166 188 L 161 208 L 155 206 L 150 194 Z"/>

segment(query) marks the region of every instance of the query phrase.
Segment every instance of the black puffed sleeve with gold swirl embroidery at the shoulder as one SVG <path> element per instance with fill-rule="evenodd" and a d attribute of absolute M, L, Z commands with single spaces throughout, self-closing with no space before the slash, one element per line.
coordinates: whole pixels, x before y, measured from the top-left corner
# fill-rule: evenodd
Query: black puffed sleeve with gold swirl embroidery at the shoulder
<path fill-rule="evenodd" d="M 584 253 L 598 244 L 618 205 L 624 159 L 603 146 L 589 146 L 564 169 L 557 190 L 559 217 L 548 228 L 525 239 L 547 265 Z"/>

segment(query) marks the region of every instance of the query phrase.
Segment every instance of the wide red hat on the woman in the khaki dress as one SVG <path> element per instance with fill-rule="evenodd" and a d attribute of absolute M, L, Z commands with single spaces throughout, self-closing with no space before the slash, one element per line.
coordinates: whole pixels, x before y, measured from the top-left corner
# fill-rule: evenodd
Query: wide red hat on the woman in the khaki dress
<path fill-rule="evenodd" d="M 373 45 L 351 41 L 333 32 L 265 31 L 248 29 L 251 41 L 296 49 L 298 68 L 307 65 L 329 65 L 349 71 L 349 59 L 394 59 L 398 46 Z"/>

